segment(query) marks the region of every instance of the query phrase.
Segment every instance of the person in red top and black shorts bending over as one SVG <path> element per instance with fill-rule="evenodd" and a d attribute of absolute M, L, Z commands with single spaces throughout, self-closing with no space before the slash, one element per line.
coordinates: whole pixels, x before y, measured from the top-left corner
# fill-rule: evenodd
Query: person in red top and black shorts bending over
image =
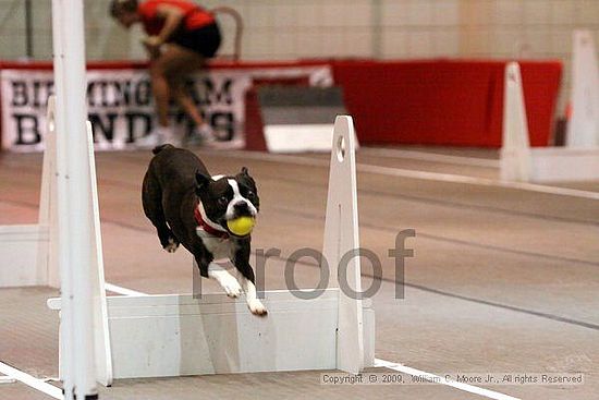
<path fill-rule="evenodd" d="M 143 44 L 149 54 L 149 73 L 158 112 L 158 126 L 139 144 L 181 144 L 169 128 L 169 100 L 173 97 L 196 124 L 204 140 L 213 132 L 185 90 L 185 76 L 206 65 L 220 47 L 215 16 L 185 0 L 112 0 L 110 14 L 127 29 L 142 23 L 148 36 Z"/>

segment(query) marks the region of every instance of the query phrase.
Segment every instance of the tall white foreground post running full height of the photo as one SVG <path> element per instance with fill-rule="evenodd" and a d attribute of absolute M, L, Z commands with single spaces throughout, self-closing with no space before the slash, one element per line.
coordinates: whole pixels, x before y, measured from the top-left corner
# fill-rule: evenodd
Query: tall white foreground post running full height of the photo
<path fill-rule="evenodd" d="M 52 0 L 57 90 L 59 247 L 62 277 L 61 356 L 66 399 L 97 396 L 94 368 L 91 187 L 83 0 Z"/>

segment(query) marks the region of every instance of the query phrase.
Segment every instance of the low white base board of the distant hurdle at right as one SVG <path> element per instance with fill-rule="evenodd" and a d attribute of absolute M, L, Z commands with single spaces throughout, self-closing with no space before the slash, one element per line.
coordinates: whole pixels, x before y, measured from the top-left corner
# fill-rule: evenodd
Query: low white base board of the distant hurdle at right
<path fill-rule="evenodd" d="M 518 162 L 518 155 L 527 157 L 526 153 L 502 149 L 502 170 L 510 170 Z M 533 182 L 599 180 L 599 147 L 531 147 L 529 157 L 529 180 Z"/>

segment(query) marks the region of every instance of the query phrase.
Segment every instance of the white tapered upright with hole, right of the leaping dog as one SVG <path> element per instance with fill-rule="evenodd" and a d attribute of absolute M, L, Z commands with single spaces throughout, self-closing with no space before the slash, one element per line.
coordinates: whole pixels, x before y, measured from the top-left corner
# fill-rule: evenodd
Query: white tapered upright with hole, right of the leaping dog
<path fill-rule="evenodd" d="M 339 291 L 337 367 L 357 374 L 364 368 L 364 329 L 359 250 L 355 133 L 351 117 L 337 117 L 331 151 L 329 194 L 322 254 L 329 265 L 331 288 Z M 345 279 L 339 279 L 339 266 Z M 346 263 L 346 264 L 345 264 Z M 347 292 L 347 289 L 350 291 Z"/>

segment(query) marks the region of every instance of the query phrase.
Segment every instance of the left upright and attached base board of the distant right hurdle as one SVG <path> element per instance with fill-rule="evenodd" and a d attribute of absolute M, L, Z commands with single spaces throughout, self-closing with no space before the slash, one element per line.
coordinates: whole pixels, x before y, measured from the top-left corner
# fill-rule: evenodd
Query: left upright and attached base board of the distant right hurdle
<path fill-rule="evenodd" d="M 505 68 L 501 179 L 521 182 L 599 179 L 599 147 L 530 147 L 519 65 Z"/>

